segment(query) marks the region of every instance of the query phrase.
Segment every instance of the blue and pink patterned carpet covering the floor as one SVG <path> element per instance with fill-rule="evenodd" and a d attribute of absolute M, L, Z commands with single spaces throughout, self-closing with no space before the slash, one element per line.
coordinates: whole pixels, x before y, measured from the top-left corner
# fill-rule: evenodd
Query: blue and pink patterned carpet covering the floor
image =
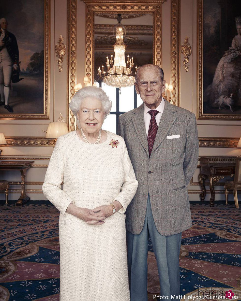
<path fill-rule="evenodd" d="M 199 300 L 198 290 L 212 287 L 214 294 L 232 290 L 241 300 L 240 209 L 191 203 L 191 212 L 193 227 L 183 232 L 180 252 L 181 299 Z M 58 301 L 58 210 L 49 204 L 0 206 L 0 220 L 0 300 Z M 160 293 L 151 241 L 148 293 L 149 300 Z"/>

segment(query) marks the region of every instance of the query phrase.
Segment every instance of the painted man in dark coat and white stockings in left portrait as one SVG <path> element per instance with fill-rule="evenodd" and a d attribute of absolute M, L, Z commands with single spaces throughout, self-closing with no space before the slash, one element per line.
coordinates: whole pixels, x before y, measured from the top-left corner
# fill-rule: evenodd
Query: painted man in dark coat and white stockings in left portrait
<path fill-rule="evenodd" d="M 18 47 L 15 36 L 7 31 L 8 22 L 5 18 L 0 19 L 0 106 L 13 112 L 8 104 L 12 69 L 18 69 Z"/>

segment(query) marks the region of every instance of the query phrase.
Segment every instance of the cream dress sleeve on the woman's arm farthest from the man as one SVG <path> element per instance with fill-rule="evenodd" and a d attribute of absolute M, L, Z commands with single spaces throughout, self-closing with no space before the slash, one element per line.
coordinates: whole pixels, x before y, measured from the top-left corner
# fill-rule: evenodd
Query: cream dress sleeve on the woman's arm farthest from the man
<path fill-rule="evenodd" d="M 67 216 L 67 207 L 74 200 L 61 189 L 61 183 L 64 179 L 64 154 L 60 137 L 57 139 L 54 151 L 49 160 L 44 183 L 42 185 L 43 194 L 55 207 L 64 215 Z"/>

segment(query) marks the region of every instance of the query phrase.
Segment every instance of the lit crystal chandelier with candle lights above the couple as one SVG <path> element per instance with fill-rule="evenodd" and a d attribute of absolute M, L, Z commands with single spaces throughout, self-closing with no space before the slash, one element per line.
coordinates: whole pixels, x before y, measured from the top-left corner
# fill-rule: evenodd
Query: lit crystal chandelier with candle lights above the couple
<path fill-rule="evenodd" d="M 125 62 L 126 45 L 124 43 L 125 27 L 121 24 L 121 14 L 117 15 L 118 24 L 115 26 L 116 43 L 114 44 L 114 61 L 111 54 L 111 60 L 106 57 L 106 66 L 98 68 L 98 79 L 102 79 L 106 85 L 119 88 L 131 87 L 135 82 L 136 68 L 134 68 L 133 57 L 129 59 L 127 55 L 127 64 Z M 114 64 L 113 64 L 114 63 Z"/>

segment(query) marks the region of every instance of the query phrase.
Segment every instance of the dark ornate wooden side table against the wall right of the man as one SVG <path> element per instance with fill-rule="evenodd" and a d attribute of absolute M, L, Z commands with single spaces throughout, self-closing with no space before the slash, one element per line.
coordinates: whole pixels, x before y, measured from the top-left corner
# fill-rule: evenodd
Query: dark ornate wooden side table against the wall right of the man
<path fill-rule="evenodd" d="M 206 196 L 205 180 L 209 180 L 209 188 L 211 192 L 210 207 L 214 206 L 215 190 L 214 185 L 218 183 L 224 176 L 232 177 L 235 171 L 236 157 L 222 156 L 202 156 L 200 157 L 199 184 L 202 188 L 202 193 L 199 195 L 201 201 L 204 201 Z"/>

